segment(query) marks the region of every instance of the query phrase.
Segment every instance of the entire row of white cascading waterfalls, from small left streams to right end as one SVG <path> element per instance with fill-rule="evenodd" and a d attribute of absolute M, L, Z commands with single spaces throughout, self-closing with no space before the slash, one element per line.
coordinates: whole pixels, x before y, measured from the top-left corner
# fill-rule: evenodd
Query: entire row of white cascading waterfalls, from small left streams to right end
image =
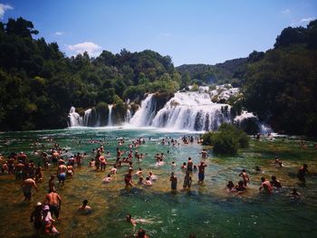
<path fill-rule="evenodd" d="M 133 117 L 131 117 L 131 111 L 128 108 L 126 114 L 122 115 L 122 119 L 135 127 L 167 128 L 171 130 L 216 130 L 222 123 L 226 122 L 235 123 L 250 134 L 258 131 L 261 133 L 272 131 L 268 126 L 261 123 L 253 113 L 243 111 L 241 115 L 234 119 L 230 113 L 230 105 L 216 103 L 211 100 L 211 98 L 217 97 L 218 100 L 226 101 L 230 95 L 237 93 L 239 93 L 239 90 L 235 88 L 229 90 L 219 88 L 204 93 L 176 92 L 163 108 L 163 104 L 158 104 L 161 102 L 158 102 L 157 95 L 149 94 L 145 100 L 142 100 Z M 104 126 L 105 123 L 109 127 L 114 126 L 112 119 L 113 105 L 108 107 L 108 122 L 95 109 L 87 109 L 81 117 L 72 107 L 68 116 L 69 126 L 100 127 Z M 158 108 L 160 108 L 159 111 Z"/>

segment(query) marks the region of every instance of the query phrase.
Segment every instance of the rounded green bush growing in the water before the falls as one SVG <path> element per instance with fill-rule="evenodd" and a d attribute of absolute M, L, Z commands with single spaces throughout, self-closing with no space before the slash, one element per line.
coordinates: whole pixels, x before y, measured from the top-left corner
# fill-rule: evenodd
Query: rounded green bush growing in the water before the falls
<path fill-rule="evenodd" d="M 203 135 L 203 145 L 213 146 L 217 154 L 235 154 L 238 148 L 249 146 L 249 137 L 231 124 L 222 124 L 218 131 Z"/>

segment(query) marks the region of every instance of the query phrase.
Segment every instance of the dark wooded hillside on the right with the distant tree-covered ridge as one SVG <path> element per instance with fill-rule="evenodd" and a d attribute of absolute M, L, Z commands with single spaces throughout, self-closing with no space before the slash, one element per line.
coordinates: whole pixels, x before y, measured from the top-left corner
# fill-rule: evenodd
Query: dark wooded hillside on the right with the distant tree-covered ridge
<path fill-rule="evenodd" d="M 317 20 L 287 27 L 274 49 L 216 65 L 178 68 L 190 83 L 232 83 L 242 87 L 239 104 L 254 111 L 275 131 L 317 136 Z"/>

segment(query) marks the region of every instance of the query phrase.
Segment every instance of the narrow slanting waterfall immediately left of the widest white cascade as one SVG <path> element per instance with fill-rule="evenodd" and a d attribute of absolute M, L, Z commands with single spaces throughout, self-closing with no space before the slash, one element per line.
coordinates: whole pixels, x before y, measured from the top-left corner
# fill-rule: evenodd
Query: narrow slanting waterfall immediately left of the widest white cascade
<path fill-rule="evenodd" d="M 130 119 L 130 123 L 137 127 L 147 127 L 151 125 L 155 116 L 156 103 L 153 102 L 153 94 L 149 94 L 145 100 L 142 100 L 140 108 Z"/>

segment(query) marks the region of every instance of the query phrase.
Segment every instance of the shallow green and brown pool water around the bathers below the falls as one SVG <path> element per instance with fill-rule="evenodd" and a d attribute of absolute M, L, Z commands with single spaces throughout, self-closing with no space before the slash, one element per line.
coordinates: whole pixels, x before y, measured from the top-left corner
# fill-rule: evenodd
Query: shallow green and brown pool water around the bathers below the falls
<path fill-rule="evenodd" d="M 62 148 L 69 150 L 69 155 L 87 152 L 88 157 L 82 168 L 75 168 L 73 179 L 66 180 L 65 187 L 57 185 L 57 193 L 62 196 L 61 221 L 56 228 L 62 237 L 124 237 L 135 233 L 135 229 L 144 228 L 150 237 L 187 237 L 195 233 L 197 237 L 313 237 L 317 235 L 317 187 L 316 176 L 307 177 L 306 186 L 300 186 L 296 173 L 303 163 L 316 172 L 316 143 L 307 140 L 308 148 L 299 146 L 298 138 L 276 138 L 274 140 L 255 141 L 251 147 L 239 151 L 235 157 L 219 157 L 208 150 L 206 159 L 205 184 L 197 185 L 197 173 L 193 173 L 193 186 L 190 191 L 181 191 L 184 172 L 180 166 L 192 157 L 194 164 L 200 161 L 199 152 L 202 147 L 197 144 L 181 145 L 177 148 L 161 145 L 160 139 L 165 137 L 178 138 L 184 133 L 159 132 L 154 129 L 61 129 L 29 132 L 11 132 L 0 134 L 0 153 L 24 151 L 30 159 L 40 161 L 33 155 L 34 148 L 29 145 L 38 139 L 47 150 L 53 146 L 48 138 L 54 138 Z M 194 135 L 194 136 L 197 136 Z M 88 167 L 93 155 L 89 140 L 102 139 L 109 144 L 105 146 L 115 155 L 116 138 L 125 138 L 128 142 L 133 138 L 146 138 L 146 144 L 139 148 L 139 153 L 147 153 L 141 163 L 134 161 L 135 170 L 143 168 L 143 173 L 151 170 L 159 180 L 151 187 L 135 186 L 125 189 L 123 176 L 126 166 L 118 170 L 113 181 L 102 184 L 102 178 L 110 170 L 95 172 Z M 151 140 L 149 140 L 151 138 Z M 169 153 L 168 153 L 169 150 Z M 175 161 L 173 169 L 166 164 L 156 167 L 154 155 L 163 152 L 166 162 Z M 272 165 L 274 157 L 283 160 L 285 167 Z M 113 161 L 110 160 L 110 161 Z M 264 171 L 257 174 L 255 166 Z M 224 187 L 228 180 L 235 183 L 240 179 L 238 174 L 245 168 L 251 178 L 248 190 L 242 195 L 229 194 Z M 44 172 L 44 181 L 39 192 L 34 193 L 30 204 L 24 202 L 20 183 L 14 176 L 0 176 L 0 237 L 32 237 L 34 230 L 29 216 L 37 201 L 43 202 L 47 192 L 47 181 L 56 168 L 51 167 Z M 175 171 L 178 176 L 178 192 L 170 192 L 169 174 Z M 283 189 L 274 195 L 259 194 L 261 176 L 270 178 L 277 176 Z M 137 182 L 137 178 L 133 177 Z M 57 182 L 56 182 L 57 184 Z M 300 200 L 290 200 L 288 194 L 296 187 L 302 194 Z M 83 199 L 89 200 L 93 212 L 89 215 L 76 214 Z M 149 220 L 146 224 L 132 225 L 124 220 L 126 214 L 135 218 Z M 150 222 L 154 223 L 150 223 Z"/>

